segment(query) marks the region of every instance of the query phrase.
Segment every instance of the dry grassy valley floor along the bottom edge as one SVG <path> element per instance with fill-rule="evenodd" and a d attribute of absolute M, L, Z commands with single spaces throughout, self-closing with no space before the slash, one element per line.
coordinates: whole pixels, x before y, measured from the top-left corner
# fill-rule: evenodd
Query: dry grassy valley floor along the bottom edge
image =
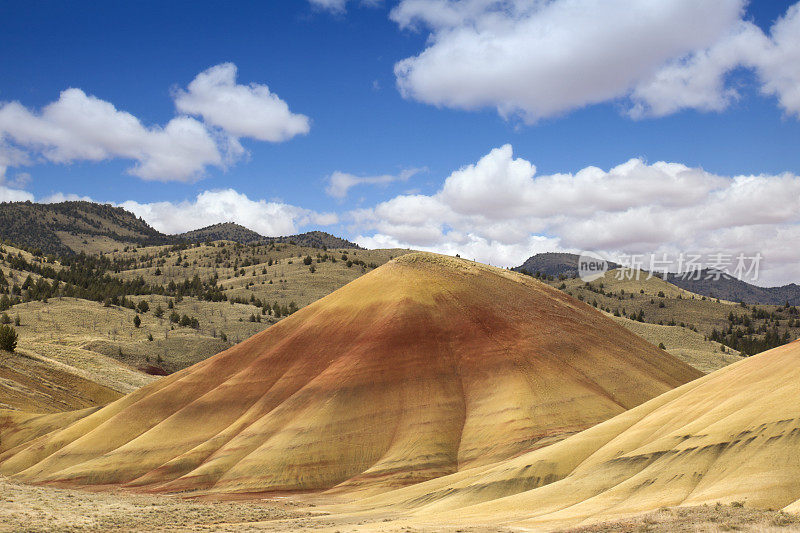
<path fill-rule="evenodd" d="M 308 500 L 269 498 L 235 502 L 198 501 L 123 491 L 87 492 L 32 486 L 0 477 L 0 531 L 383 531 L 489 533 L 504 527 L 422 525 L 403 516 L 330 515 Z M 800 516 L 729 505 L 665 508 L 629 519 L 563 530 L 606 532 L 789 532 Z"/>

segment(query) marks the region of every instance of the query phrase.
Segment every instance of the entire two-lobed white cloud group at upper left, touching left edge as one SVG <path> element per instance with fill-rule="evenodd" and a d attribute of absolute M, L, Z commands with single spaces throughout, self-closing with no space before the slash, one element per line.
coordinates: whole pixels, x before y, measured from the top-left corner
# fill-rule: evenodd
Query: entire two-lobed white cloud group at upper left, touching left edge
<path fill-rule="evenodd" d="M 128 172 L 145 180 L 194 181 L 208 167 L 226 168 L 244 153 L 240 138 L 278 142 L 307 133 L 308 117 L 264 85 L 238 85 L 236 67 L 224 63 L 200 73 L 188 90 L 175 91 L 182 113 L 164 126 L 145 126 L 132 114 L 77 88 L 61 92 L 40 111 L 0 103 L 0 177 L 7 168 L 38 159 L 127 159 Z"/>

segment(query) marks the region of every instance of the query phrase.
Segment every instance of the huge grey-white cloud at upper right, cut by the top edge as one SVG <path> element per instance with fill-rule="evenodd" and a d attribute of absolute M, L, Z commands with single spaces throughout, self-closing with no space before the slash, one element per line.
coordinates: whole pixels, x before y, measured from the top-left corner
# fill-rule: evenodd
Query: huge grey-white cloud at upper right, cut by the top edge
<path fill-rule="evenodd" d="M 738 97 L 727 74 L 744 67 L 800 113 L 800 5 L 767 36 L 742 19 L 746 3 L 402 0 L 391 18 L 430 37 L 395 65 L 397 85 L 407 98 L 528 122 L 614 100 L 638 118 L 720 111 Z"/>

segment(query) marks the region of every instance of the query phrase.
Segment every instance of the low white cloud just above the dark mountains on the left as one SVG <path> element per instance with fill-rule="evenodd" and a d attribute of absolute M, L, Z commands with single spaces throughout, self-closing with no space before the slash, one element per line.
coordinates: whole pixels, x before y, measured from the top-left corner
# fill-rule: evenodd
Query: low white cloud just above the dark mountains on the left
<path fill-rule="evenodd" d="M 126 201 L 119 206 L 164 233 L 182 233 L 219 222 L 236 222 L 272 237 L 297 233 L 300 226 L 308 224 L 329 225 L 338 221 L 332 213 L 316 213 L 277 201 L 252 200 L 233 189 L 204 191 L 194 200 L 177 203 Z"/>

